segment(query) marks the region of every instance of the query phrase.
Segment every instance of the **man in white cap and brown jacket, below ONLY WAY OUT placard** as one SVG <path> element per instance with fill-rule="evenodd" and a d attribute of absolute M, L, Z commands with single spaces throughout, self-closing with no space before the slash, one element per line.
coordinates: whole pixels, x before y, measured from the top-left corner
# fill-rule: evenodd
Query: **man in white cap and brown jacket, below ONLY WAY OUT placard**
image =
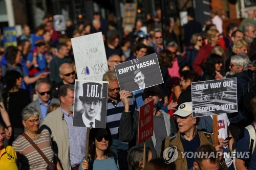
<path fill-rule="evenodd" d="M 196 125 L 199 122 L 199 118 L 192 117 L 192 112 L 193 109 L 191 102 L 181 104 L 178 110 L 173 114 L 178 124 L 179 131 L 176 136 L 165 138 L 165 143 L 169 144 L 167 146 L 165 145 L 165 148 L 170 147 L 171 145 L 177 147 L 178 159 L 175 161 L 177 169 L 183 170 L 193 167 L 195 157 L 189 157 L 189 159 L 186 159 L 187 156 L 191 156 L 190 154 L 186 154 L 184 158 L 181 158 L 182 154 L 184 155 L 185 152 L 195 153 L 202 144 L 214 144 L 212 134 L 197 130 Z M 218 145 L 216 150 L 223 152 L 221 145 Z M 223 155 L 219 158 L 221 161 L 221 167 L 224 165 L 226 166 L 225 160 L 222 158 Z"/>

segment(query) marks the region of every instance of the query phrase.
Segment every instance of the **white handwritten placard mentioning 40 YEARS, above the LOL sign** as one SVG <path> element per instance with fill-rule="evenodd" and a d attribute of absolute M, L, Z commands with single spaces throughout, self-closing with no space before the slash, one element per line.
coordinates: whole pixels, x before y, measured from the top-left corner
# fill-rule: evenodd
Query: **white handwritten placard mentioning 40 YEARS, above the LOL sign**
<path fill-rule="evenodd" d="M 102 33 L 71 38 L 71 42 L 78 79 L 101 81 L 109 70 Z"/>

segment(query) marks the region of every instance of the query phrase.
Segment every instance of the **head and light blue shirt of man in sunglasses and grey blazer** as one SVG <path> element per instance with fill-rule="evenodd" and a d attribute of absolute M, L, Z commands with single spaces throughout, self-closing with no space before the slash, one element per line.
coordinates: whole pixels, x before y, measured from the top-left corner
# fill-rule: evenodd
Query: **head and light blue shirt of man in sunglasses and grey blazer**
<path fill-rule="evenodd" d="M 38 80 L 35 84 L 35 92 L 38 99 L 31 102 L 28 106 L 32 106 L 39 111 L 39 118 L 44 120 L 47 109 L 51 103 L 59 103 L 58 100 L 51 100 L 51 85 L 46 79 Z"/>

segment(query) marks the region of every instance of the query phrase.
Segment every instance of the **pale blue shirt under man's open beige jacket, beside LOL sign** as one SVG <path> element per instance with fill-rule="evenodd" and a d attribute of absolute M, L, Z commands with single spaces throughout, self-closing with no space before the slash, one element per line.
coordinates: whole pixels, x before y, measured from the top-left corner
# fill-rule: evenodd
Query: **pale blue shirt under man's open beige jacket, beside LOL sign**
<path fill-rule="evenodd" d="M 69 129 L 69 156 L 72 167 L 79 166 L 81 160 L 86 154 L 86 127 L 73 127 L 73 116 L 63 110 L 64 119 L 67 122 Z"/>

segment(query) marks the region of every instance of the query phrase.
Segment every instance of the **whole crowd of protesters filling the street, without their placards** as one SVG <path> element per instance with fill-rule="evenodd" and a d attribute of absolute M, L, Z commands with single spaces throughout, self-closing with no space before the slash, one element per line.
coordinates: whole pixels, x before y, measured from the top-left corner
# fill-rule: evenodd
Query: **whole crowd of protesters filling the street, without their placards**
<path fill-rule="evenodd" d="M 17 47 L 1 47 L 0 169 L 46 169 L 52 164 L 57 170 L 256 169 L 256 151 L 250 150 L 253 142 L 245 129 L 256 125 L 254 10 L 249 10 L 241 26 L 229 23 L 227 28 L 215 10 L 204 27 L 188 10 L 184 48 L 178 45 L 181 31 L 177 31 L 174 18 L 160 29 L 160 9 L 154 16 L 147 15 L 145 23 L 138 18 L 134 29 L 117 30 L 115 17 L 93 16 L 92 21 L 86 19 L 79 25 L 66 21 L 64 34 L 45 17 L 35 33 L 23 26 Z M 143 25 L 147 33 L 141 30 Z M 109 82 L 106 129 L 91 130 L 89 159 L 85 160 L 87 129 L 72 126 L 76 66 L 71 38 L 97 32 L 102 32 L 109 66 L 102 80 Z M 120 91 L 114 65 L 152 53 L 158 56 L 164 83 L 133 93 Z M 231 77 L 237 78 L 238 112 L 218 115 L 225 126 L 218 124 L 219 141 L 214 141 L 212 116 L 191 116 L 191 83 Z M 246 103 L 248 93 L 251 101 Z M 154 135 L 145 141 L 143 161 L 143 143 L 136 146 L 138 109 L 151 101 Z M 172 146 L 184 153 L 222 154 L 195 159 L 181 158 L 179 153 L 177 160 L 166 163 L 163 151 Z M 234 149 L 251 152 L 249 158 L 223 156 Z"/>

